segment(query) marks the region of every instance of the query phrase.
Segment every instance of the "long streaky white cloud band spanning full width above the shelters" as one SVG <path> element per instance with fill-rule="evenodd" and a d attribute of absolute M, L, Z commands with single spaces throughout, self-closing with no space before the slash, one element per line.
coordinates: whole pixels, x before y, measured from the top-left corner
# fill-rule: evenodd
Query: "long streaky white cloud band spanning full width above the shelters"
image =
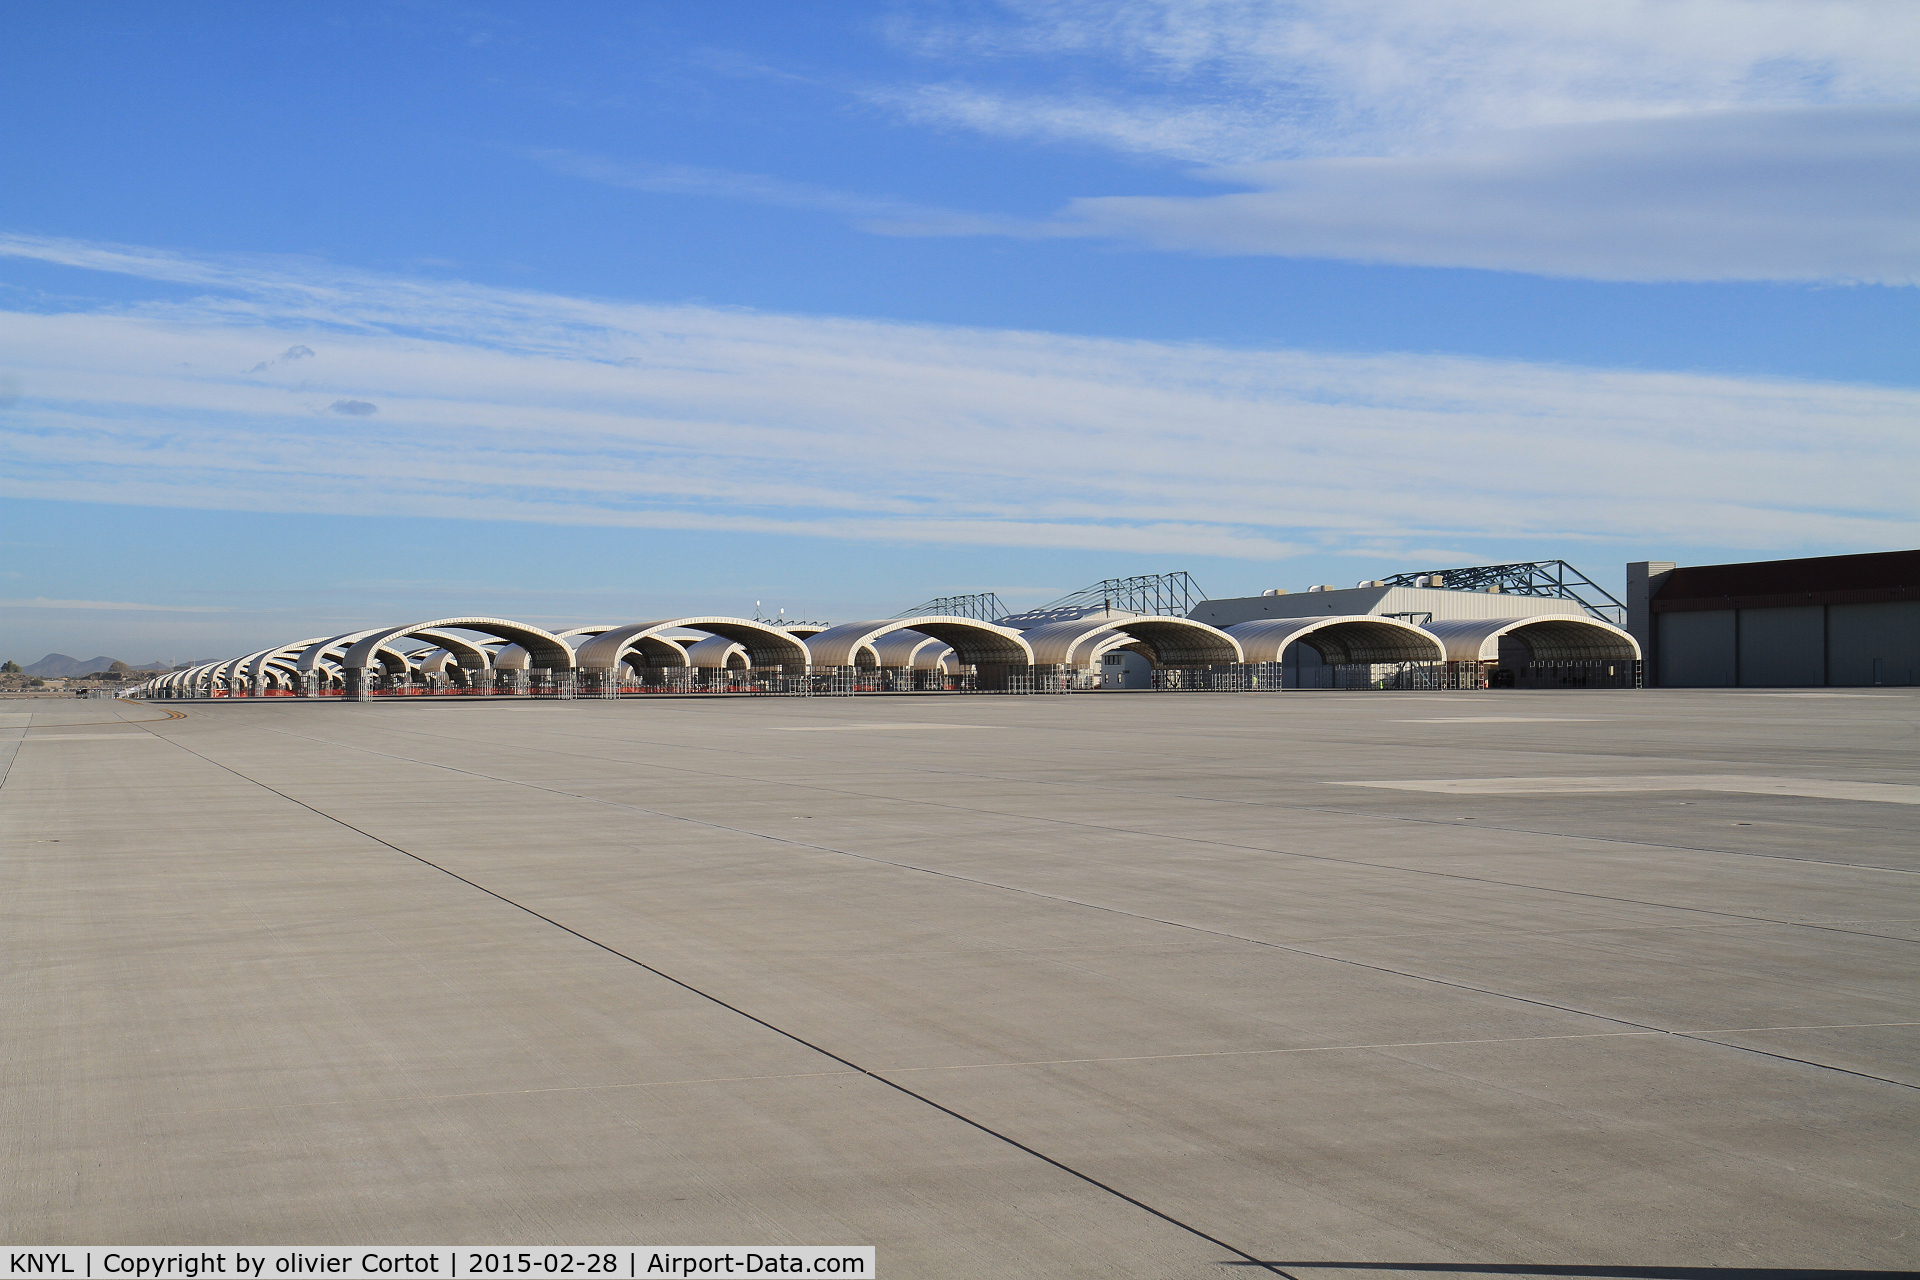
<path fill-rule="evenodd" d="M 1920 533 L 1914 391 L 647 307 L 29 238 L 0 253 L 205 286 L 0 313 L 17 497 L 1244 558 Z M 315 355 L 209 372 L 288 344 Z"/>

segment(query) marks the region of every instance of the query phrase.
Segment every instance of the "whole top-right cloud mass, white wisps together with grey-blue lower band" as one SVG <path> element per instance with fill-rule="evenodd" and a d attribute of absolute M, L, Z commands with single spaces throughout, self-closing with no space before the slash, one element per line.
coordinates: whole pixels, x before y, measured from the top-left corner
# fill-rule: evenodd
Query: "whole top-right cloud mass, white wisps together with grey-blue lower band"
<path fill-rule="evenodd" d="M 1920 274 L 1920 6 L 1907 0 L 998 8 L 1002 21 L 970 10 L 895 27 L 987 81 L 868 96 L 922 123 L 1198 161 L 1196 177 L 1254 190 L 1091 196 L 1025 226 L 874 215 L 876 230 L 1601 280 Z M 991 81 L 1021 58 L 1050 71 Z"/>

